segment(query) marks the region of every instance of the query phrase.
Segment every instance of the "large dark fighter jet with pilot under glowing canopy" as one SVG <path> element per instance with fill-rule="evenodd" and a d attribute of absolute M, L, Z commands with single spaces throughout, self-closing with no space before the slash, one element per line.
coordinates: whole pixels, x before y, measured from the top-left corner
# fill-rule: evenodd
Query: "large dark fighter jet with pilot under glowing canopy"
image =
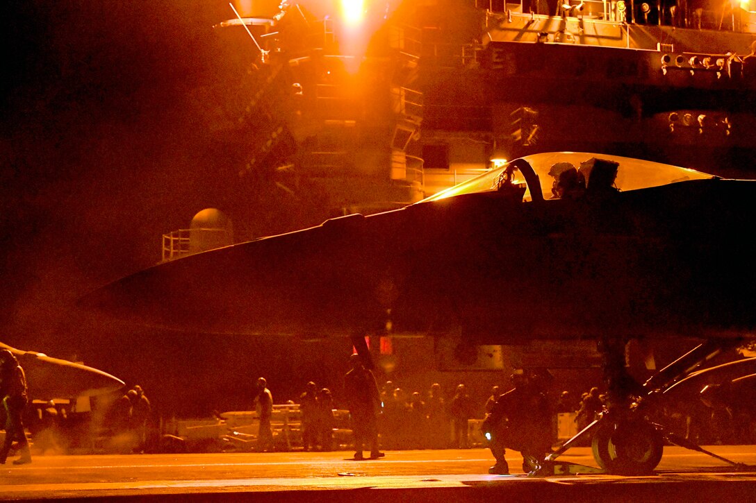
<path fill-rule="evenodd" d="M 405 208 L 160 264 L 84 304 L 195 331 L 349 336 L 366 358 L 364 335 L 595 339 L 625 413 L 579 435 L 593 433 L 608 471 L 645 473 L 669 438 L 639 400 L 754 335 L 754 201 L 756 181 L 541 153 Z M 702 344 L 640 389 L 628 385 L 630 338 L 680 336 Z"/>

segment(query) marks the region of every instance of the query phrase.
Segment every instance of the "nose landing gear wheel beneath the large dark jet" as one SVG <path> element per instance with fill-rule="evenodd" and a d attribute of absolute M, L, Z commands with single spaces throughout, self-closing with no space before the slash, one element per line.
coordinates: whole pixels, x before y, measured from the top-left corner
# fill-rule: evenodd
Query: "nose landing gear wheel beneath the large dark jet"
<path fill-rule="evenodd" d="M 652 473 L 662 460 L 664 441 L 646 421 L 607 421 L 593 434 L 593 458 L 610 474 Z"/>

